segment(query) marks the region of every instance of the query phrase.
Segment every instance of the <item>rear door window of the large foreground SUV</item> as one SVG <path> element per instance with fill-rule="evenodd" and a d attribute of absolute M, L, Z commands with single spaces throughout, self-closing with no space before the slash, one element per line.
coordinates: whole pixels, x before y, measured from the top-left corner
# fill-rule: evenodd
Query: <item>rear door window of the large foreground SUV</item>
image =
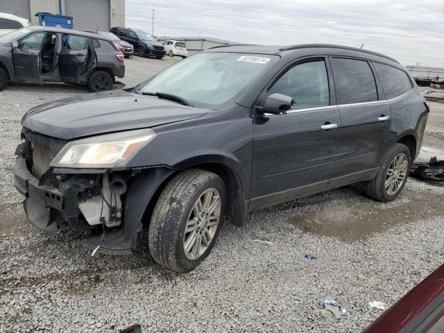
<path fill-rule="evenodd" d="M 364 103 L 377 101 L 373 71 L 364 60 L 333 58 L 336 103 Z"/>

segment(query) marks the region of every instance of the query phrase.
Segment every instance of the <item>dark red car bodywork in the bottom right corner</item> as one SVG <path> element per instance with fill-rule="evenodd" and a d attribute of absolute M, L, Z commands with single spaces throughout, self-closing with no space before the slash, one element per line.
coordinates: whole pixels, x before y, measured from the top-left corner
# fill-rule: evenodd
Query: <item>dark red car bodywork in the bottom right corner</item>
<path fill-rule="evenodd" d="M 444 332 L 444 265 L 406 293 L 364 333 Z"/>

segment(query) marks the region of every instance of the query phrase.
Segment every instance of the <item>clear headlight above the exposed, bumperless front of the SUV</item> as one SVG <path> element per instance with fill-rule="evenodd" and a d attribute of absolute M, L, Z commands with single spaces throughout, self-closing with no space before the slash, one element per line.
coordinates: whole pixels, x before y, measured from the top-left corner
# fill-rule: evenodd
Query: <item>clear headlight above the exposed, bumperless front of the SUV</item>
<path fill-rule="evenodd" d="M 51 167 L 125 167 L 128 161 L 157 135 L 153 130 L 128 130 L 68 142 L 54 157 Z"/>

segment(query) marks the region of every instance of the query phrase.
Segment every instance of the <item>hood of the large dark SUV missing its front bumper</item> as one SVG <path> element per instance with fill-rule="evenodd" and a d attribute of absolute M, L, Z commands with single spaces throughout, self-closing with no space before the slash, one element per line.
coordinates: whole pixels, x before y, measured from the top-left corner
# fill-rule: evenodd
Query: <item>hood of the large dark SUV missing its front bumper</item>
<path fill-rule="evenodd" d="M 74 139 L 119 130 L 151 128 L 202 117 L 209 110 L 114 90 L 44 103 L 24 115 L 22 125 L 35 132 Z"/>

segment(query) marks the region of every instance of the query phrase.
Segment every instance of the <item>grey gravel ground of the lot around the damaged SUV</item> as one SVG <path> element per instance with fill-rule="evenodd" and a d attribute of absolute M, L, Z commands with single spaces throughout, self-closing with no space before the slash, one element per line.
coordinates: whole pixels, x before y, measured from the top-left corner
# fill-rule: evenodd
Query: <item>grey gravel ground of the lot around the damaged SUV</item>
<path fill-rule="evenodd" d="M 123 82 L 175 61 L 126 60 Z M 0 92 L 1 332 L 119 332 L 135 323 L 143 332 L 359 332 L 382 314 L 369 301 L 392 305 L 443 263 L 444 187 L 409 179 L 393 203 L 375 203 L 355 185 L 254 212 L 243 228 L 225 223 L 210 257 L 186 275 L 153 262 L 146 233 L 135 255 L 98 254 L 87 266 L 82 234 L 45 234 L 26 222 L 12 175 L 24 112 L 85 92 Z M 443 119 L 444 104 L 432 103 L 427 146 L 442 149 Z M 87 277 L 94 273 L 99 283 Z M 329 298 L 347 310 L 341 320 L 316 308 Z"/>

